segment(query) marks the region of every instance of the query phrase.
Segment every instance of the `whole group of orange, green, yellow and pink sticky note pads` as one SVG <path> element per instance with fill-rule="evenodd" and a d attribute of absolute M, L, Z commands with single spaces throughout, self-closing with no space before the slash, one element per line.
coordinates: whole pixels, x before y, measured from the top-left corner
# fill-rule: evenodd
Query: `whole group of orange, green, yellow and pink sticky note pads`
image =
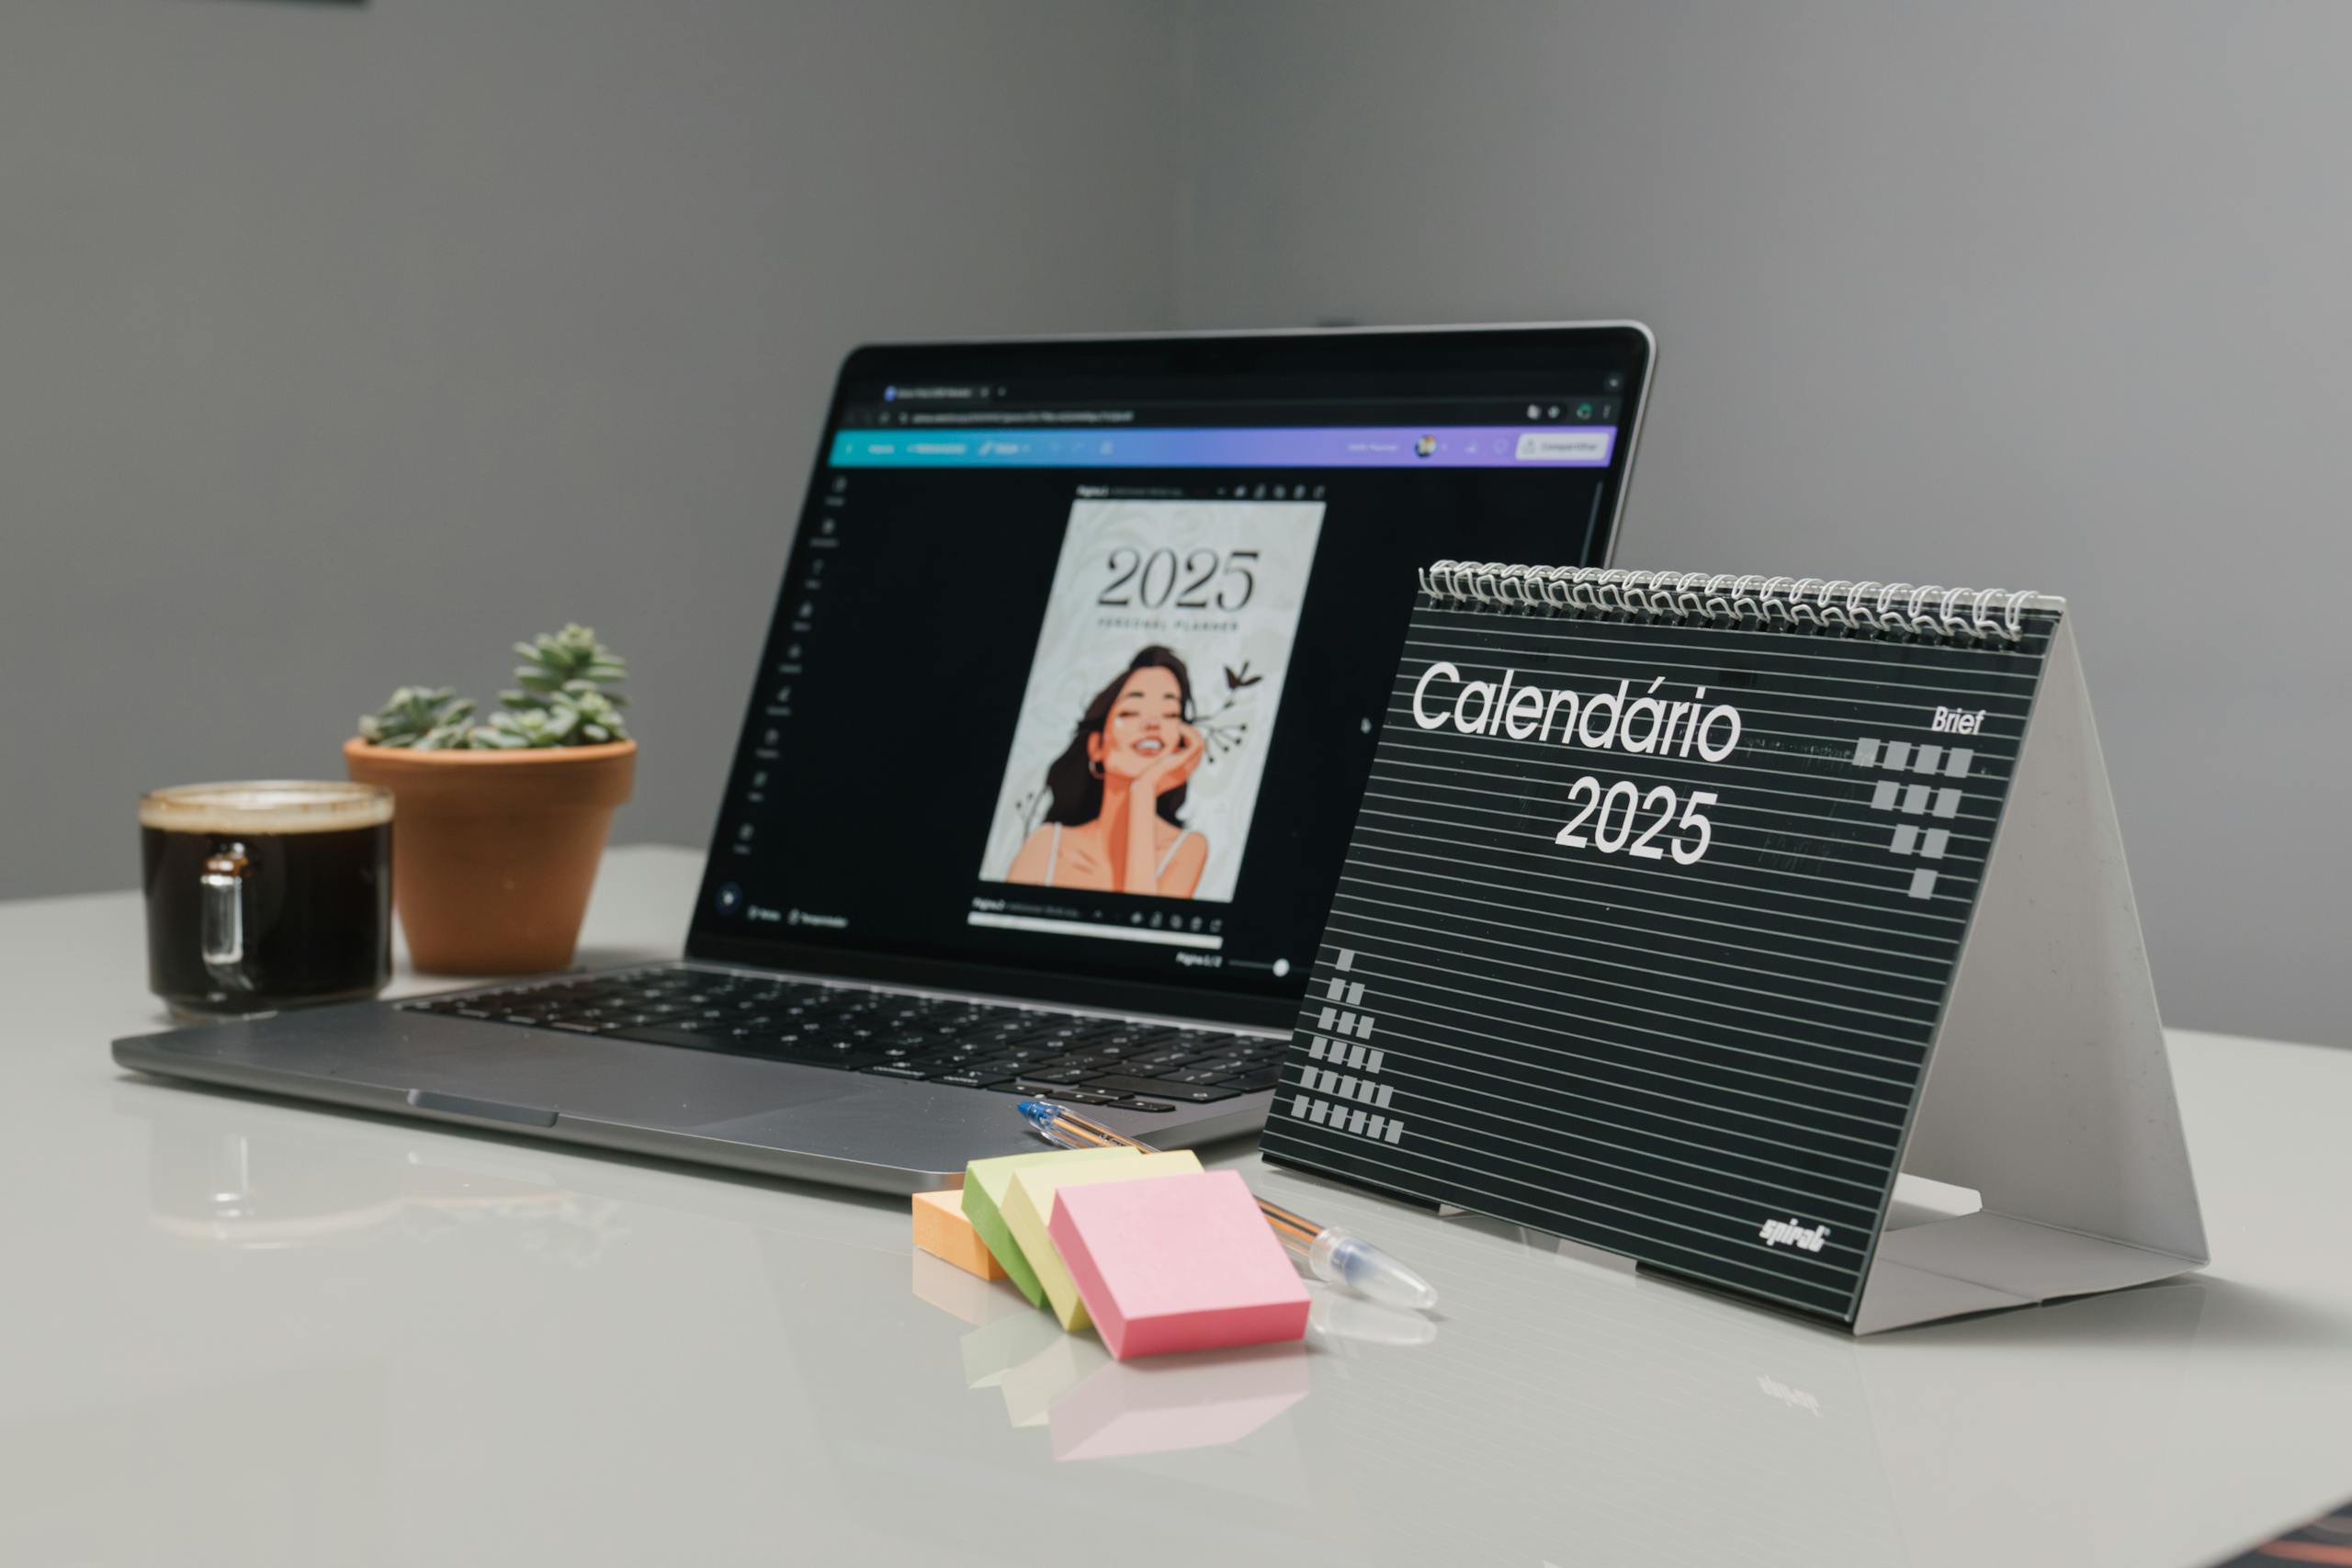
<path fill-rule="evenodd" d="M 1249 1187 L 1190 1150 L 976 1159 L 960 1194 L 915 1194 L 915 1244 L 1101 1328 L 1122 1361 L 1305 1335 L 1305 1286 Z"/>

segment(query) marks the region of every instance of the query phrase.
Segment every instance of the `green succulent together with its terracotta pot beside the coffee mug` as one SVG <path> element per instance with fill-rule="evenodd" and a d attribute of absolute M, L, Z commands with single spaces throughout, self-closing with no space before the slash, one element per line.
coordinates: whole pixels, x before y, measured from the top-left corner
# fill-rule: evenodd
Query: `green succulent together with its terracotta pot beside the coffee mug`
<path fill-rule="evenodd" d="M 393 907 L 416 969 L 564 969 L 637 743 L 614 686 L 628 665 L 586 625 L 517 642 L 501 710 L 473 722 L 447 686 L 402 686 L 343 743 L 358 783 L 393 792 Z"/>

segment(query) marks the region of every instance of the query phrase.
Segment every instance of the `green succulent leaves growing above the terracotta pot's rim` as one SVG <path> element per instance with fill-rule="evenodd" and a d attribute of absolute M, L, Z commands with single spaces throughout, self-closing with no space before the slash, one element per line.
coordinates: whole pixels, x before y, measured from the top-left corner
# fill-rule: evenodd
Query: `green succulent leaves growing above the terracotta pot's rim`
<path fill-rule="evenodd" d="M 437 750 L 534 750 L 548 745 L 602 745 L 626 741 L 621 708 L 612 691 L 628 679 L 628 663 L 595 639 L 586 625 L 541 632 L 517 642 L 522 665 L 515 691 L 501 691 L 503 708 L 487 724 L 468 724 L 473 703 L 449 686 L 400 686 L 376 712 L 360 719 L 369 745 Z"/>

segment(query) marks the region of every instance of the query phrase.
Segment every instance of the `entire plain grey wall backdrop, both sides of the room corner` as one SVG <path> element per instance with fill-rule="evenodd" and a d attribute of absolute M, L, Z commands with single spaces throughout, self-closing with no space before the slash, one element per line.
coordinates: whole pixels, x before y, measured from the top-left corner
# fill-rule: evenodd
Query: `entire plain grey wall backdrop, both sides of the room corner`
<path fill-rule="evenodd" d="M 1639 315 L 1623 562 L 2072 595 L 2169 1018 L 2352 1039 L 2338 5 L 0 7 L 0 896 L 595 621 L 699 842 L 866 336 Z"/>

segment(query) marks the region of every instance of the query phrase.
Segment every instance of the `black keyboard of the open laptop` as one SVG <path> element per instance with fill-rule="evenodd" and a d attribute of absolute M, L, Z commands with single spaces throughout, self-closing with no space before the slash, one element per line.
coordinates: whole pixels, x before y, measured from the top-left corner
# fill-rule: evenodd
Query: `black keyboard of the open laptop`
<path fill-rule="evenodd" d="M 1143 1112 L 1272 1088 L 1289 1046 L 1261 1034 L 715 969 L 576 976 L 400 1006 Z"/>

